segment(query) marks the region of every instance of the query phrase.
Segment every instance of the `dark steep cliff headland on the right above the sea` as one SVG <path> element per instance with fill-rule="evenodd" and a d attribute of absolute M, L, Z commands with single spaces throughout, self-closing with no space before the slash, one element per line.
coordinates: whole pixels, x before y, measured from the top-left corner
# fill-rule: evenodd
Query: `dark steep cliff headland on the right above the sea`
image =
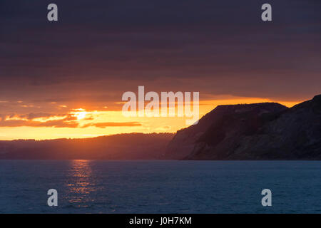
<path fill-rule="evenodd" d="M 321 158 L 321 95 L 293 108 L 277 103 L 221 105 L 178 131 L 169 159 L 296 160 Z"/>

